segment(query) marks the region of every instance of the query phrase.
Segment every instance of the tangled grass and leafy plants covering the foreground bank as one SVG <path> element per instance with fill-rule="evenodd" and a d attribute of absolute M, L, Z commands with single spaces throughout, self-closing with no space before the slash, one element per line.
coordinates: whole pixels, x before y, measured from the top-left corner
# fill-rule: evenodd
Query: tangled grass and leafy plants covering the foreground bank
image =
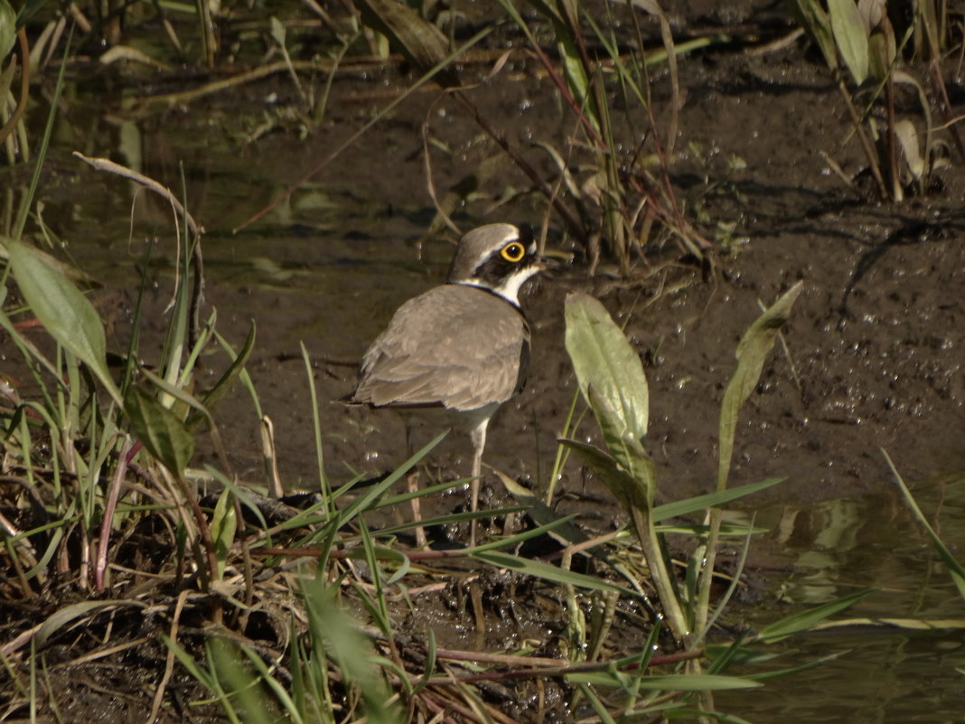
<path fill-rule="evenodd" d="M 581 717 L 714 716 L 713 691 L 759 685 L 728 674 L 733 662 L 860 598 L 792 617 L 756 637 L 705 645 L 727 605 L 725 595 L 708 614 L 711 597 L 704 586 L 712 579 L 707 571 L 713 558 L 706 551 L 716 549 L 722 536 L 746 547 L 754 531 L 725 527 L 711 512 L 705 525 L 693 528 L 698 552 L 680 578 L 666 556 L 668 533 L 661 523 L 706 512 L 776 481 L 734 490 L 722 483 L 709 496 L 654 507 L 656 481 L 645 448 L 646 379 L 612 320 L 585 296 L 567 304 L 567 348 L 607 449 L 571 439 L 565 445 L 614 491 L 639 547 L 628 531 L 612 540 L 586 541 L 570 518 L 531 501 L 515 510 L 533 510 L 534 517 L 538 510 L 549 512 L 532 530 L 468 550 L 407 548 L 400 536 L 414 523 L 387 528 L 373 527 L 372 520 L 380 508 L 411 496 L 391 496 L 390 490 L 439 438 L 370 487 L 358 487 L 357 479 L 329 487 L 319 457 L 319 493 L 297 505 L 267 495 L 266 488 L 239 485 L 227 462 L 224 470 L 192 470 L 197 426 L 210 424 L 208 406 L 219 396 L 216 391 L 240 380 L 256 404 L 257 395 L 244 373 L 253 336 L 240 352 L 229 352 L 226 372 L 212 390 L 189 391 L 192 366 L 203 351 L 226 346 L 216 342 L 213 314 L 190 342 L 189 290 L 196 272 L 190 260 L 200 241 L 185 232 L 180 243 L 183 276 L 157 373 L 128 362 L 121 381 L 110 372 L 101 379 L 92 369 L 103 364 L 104 353 L 93 327 L 85 334 L 94 341 L 85 338 L 82 345 L 68 330 L 76 333 L 83 324 L 6 307 L 4 326 L 36 371 L 39 392 L 37 401 L 19 401 L 2 418 L 8 476 L 4 593 L 41 611 L 36 627 L 9 614 L 2 624 L 13 634 L 2 651 L 11 677 L 0 696 L 9 710 L 57 710 L 71 685 L 61 673 L 66 665 L 113 660 L 130 650 L 157 662 L 138 682 L 151 692 L 152 717 L 176 716 L 175 692 L 191 691 L 187 706 L 220 711 L 231 721 L 365 716 L 390 722 L 436 715 L 503 720 L 519 711 L 493 698 L 487 687 L 531 690 L 550 682 L 564 695 L 565 710 Z M 14 259 L 25 248 L 14 252 Z M 30 298 L 22 288 L 54 285 L 76 305 L 70 314 L 93 313 L 86 296 L 56 268 L 31 259 L 14 265 L 12 291 Z M 34 268 L 39 265 L 41 272 Z M 34 278 L 21 285 L 31 273 Z M 722 413 L 722 436 L 732 433 L 741 395 L 756 383 L 798 291 L 787 292 L 745 337 L 731 378 L 735 402 Z M 37 315 L 49 339 L 37 345 L 24 335 L 19 330 L 24 314 Z M 47 346 L 53 351 L 41 351 Z M 137 352 L 132 342 L 127 359 L 136 359 Z M 600 360 L 609 365 L 597 364 Z M 314 396 L 311 404 L 317 404 Z M 204 494 L 195 485 L 199 479 L 220 484 L 220 490 Z M 424 524 L 464 522 L 467 515 L 473 514 Z M 520 548 L 547 531 L 565 541 L 558 563 Z M 482 651 L 494 615 L 484 604 L 492 596 L 487 575 L 496 571 L 514 571 L 520 581 L 529 581 L 525 585 L 534 595 L 559 601 L 553 624 L 558 644 L 549 639 Z M 442 646 L 431 628 L 422 627 L 425 622 L 418 629 L 400 625 L 410 618 L 422 621 L 417 614 L 424 601 L 452 605 L 458 599 L 464 602 L 453 622 L 473 622 L 475 645 Z M 80 630 L 93 635 L 77 639 Z M 624 638 L 636 644 L 618 643 Z M 161 640 L 163 647 L 156 643 Z M 460 668 L 460 662 L 470 665 Z M 202 689 L 209 696 L 201 695 Z"/>

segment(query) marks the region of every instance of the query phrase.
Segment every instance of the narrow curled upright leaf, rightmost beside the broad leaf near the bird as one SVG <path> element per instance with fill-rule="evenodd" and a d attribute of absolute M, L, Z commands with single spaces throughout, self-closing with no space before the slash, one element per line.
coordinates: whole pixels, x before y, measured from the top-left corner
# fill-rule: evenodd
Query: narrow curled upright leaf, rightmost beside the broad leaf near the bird
<path fill-rule="evenodd" d="M 737 415 L 740 407 L 750 397 L 760 379 L 764 360 L 790 315 L 794 300 L 803 289 L 804 282 L 798 282 L 782 294 L 770 309 L 764 312 L 744 333 L 737 345 L 737 366 L 728 380 L 721 403 L 720 421 L 720 458 L 717 468 L 717 490 L 724 489 L 728 471 L 731 468 L 733 437 L 737 428 Z"/>

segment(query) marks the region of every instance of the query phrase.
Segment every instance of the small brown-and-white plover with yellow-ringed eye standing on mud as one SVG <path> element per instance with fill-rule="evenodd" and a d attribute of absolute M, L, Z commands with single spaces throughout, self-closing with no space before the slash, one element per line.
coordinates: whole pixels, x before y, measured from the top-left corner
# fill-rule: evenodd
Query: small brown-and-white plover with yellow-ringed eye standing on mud
<path fill-rule="evenodd" d="M 376 409 L 455 413 L 473 445 L 474 513 L 489 420 L 526 382 L 531 333 L 519 292 L 545 267 L 528 229 L 504 223 L 473 229 L 456 245 L 445 284 L 403 303 L 372 342 L 350 397 Z M 407 443 L 409 433 L 406 424 Z M 470 547 L 475 543 L 474 518 Z"/>

